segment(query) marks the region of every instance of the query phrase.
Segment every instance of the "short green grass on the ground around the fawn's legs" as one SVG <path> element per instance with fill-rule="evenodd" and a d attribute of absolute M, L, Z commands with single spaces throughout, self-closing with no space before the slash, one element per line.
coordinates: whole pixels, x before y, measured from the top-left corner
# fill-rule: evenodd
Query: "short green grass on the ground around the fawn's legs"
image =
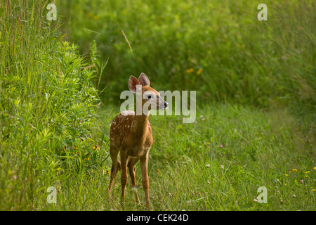
<path fill-rule="evenodd" d="M 100 113 L 100 123 L 108 112 Z M 198 112 L 203 117 L 194 124 L 182 124 L 176 116 L 150 117 L 155 141 L 149 162 L 152 210 L 315 210 L 312 118 L 299 121 L 286 109 L 238 105 L 214 104 Z M 108 132 L 110 121 L 103 126 Z M 107 152 L 102 148 L 97 157 Z M 61 178 L 57 204 L 45 203 L 46 193 L 37 210 L 145 210 L 139 164 L 141 203 L 136 205 L 129 181 L 124 208 L 120 172 L 109 199 L 110 175 L 103 170 L 110 166 L 107 160 L 73 171 L 71 179 Z M 260 186 L 267 188 L 267 204 L 254 203 Z"/>

